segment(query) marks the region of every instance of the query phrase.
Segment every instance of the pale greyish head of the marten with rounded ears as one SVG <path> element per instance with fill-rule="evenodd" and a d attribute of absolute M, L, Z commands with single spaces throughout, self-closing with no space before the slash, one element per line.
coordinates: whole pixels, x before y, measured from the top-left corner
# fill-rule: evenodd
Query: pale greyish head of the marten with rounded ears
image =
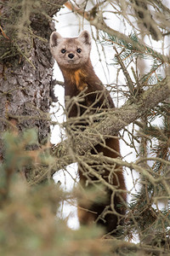
<path fill-rule="evenodd" d="M 78 38 L 62 38 L 58 32 L 53 32 L 49 46 L 59 67 L 77 69 L 88 61 L 91 39 L 88 31 L 83 31 Z"/>

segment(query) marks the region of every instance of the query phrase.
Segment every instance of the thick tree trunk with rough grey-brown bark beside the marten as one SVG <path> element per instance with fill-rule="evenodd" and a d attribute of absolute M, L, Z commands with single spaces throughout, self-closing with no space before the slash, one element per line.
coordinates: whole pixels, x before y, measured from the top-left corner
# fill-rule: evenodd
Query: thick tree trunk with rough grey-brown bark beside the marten
<path fill-rule="evenodd" d="M 63 3 L 64 0 L 0 3 L 1 132 L 11 125 L 19 131 L 37 127 L 39 143 L 48 137 L 54 66 L 48 38 L 54 30 L 51 17 Z"/>

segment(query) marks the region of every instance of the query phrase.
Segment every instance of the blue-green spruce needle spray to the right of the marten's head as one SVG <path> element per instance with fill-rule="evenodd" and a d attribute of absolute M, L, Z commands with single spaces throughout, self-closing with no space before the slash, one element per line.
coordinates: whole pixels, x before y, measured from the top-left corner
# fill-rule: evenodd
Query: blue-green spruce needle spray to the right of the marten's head
<path fill-rule="evenodd" d="M 134 61 L 137 58 L 150 61 L 150 63 L 152 63 L 150 71 L 140 78 L 140 83 L 156 84 L 156 82 L 163 79 L 161 72 L 165 66 L 169 65 L 169 58 L 166 55 L 161 55 L 161 53 L 150 48 L 146 44 L 142 44 L 135 33 L 129 35 L 132 44 L 127 43 L 123 39 L 111 36 L 106 32 L 102 32 L 101 37 L 103 38 L 104 44 L 115 45 L 116 49 L 121 50 L 121 58 L 125 64 L 128 64 L 130 61 Z M 116 57 L 113 62 L 115 65 L 119 65 L 119 61 L 117 61 Z"/>

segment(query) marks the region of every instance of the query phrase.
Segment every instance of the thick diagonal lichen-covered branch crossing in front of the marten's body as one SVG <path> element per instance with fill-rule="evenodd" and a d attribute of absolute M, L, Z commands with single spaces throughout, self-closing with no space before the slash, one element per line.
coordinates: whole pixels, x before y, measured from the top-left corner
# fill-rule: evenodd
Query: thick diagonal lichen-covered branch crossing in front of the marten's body
<path fill-rule="evenodd" d="M 138 98 L 133 98 L 133 101 L 128 100 L 122 108 L 115 108 L 108 112 L 104 119 L 99 123 L 95 122 L 94 125 L 87 127 L 77 137 L 71 137 L 71 141 L 68 138 L 64 142 L 59 143 L 54 147 L 56 163 L 50 174 L 53 175 L 59 169 L 76 162 L 76 157 L 72 154 L 73 151 L 79 155 L 85 154 L 96 144 L 102 142 L 104 138 L 116 135 L 125 126 L 147 114 L 159 102 L 166 100 L 168 96 L 170 96 L 170 77 L 167 76 L 160 83 L 153 85 L 151 89 L 144 91 Z M 71 142 L 73 145 L 72 148 Z M 47 172 L 45 173 L 42 170 L 37 177 L 34 177 L 33 182 L 36 183 L 36 180 L 39 182 L 46 176 Z"/>

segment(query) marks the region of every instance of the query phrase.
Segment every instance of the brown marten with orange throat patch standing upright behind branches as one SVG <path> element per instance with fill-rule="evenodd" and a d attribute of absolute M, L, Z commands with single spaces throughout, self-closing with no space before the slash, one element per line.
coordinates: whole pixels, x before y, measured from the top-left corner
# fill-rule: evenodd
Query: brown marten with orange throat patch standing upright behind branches
<path fill-rule="evenodd" d="M 87 31 L 83 31 L 78 38 L 62 38 L 58 32 L 53 32 L 50 37 L 50 49 L 65 79 L 65 107 L 68 119 L 115 108 L 109 92 L 94 73 L 89 57 L 91 38 Z M 77 104 L 73 99 L 80 94 L 81 97 L 83 96 L 83 100 Z M 68 104 L 68 102 L 70 103 Z M 82 131 L 83 125 L 88 125 L 88 122 L 82 121 L 82 125 L 78 122 L 77 127 L 80 131 Z M 91 154 L 101 152 L 111 158 L 120 156 L 118 138 L 107 138 L 105 143 L 100 143 L 91 150 Z M 115 186 L 116 189 L 126 189 L 121 166 L 106 168 L 100 162 L 99 166 L 96 163 L 93 166 L 91 163 L 90 167 L 100 173 L 105 181 Z M 89 172 L 82 164 L 79 164 L 78 173 L 80 183 L 85 189 L 88 189 L 97 180 L 97 177 L 88 174 L 87 183 L 87 173 Z M 89 179 L 92 181 L 91 184 L 89 184 Z M 111 232 L 114 236 L 116 226 L 122 224 L 120 219 L 125 214 L 125 207 L 122 205 L 126 201 L 126 193 L 119 192 L 113 195 L 113 191 L 108 188 L 105 188 L 105 192 L 105 201 L 78 202 L 78 218 L 80 224 L 90 224 L 96 221 L 97 224 L 105 226 L 107 233 Z M 107 213 L 107 211 L 109 212 Z"/>

